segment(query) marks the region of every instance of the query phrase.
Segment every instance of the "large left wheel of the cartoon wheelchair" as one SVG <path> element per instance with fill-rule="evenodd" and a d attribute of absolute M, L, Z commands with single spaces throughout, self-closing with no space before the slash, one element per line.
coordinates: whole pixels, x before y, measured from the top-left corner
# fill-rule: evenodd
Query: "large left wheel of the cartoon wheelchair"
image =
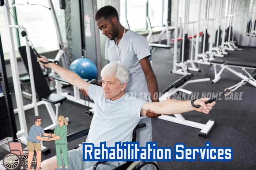
<path fill-rule="evenodd" d="M 14 153 L 5 155 L 3 159 L 3 165 L 8 170 L 16 169 L 20 165 L 19 156 Z"/>

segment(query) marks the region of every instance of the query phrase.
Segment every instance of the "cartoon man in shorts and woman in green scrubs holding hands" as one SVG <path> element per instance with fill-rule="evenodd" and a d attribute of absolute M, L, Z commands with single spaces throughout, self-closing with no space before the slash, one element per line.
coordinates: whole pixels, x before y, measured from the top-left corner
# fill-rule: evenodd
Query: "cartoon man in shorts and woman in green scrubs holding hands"
<path fill-rule="evenodd" d="M 29 150 L 27 169 L 28 170 L 44 170 L 40 167 L 41 165 L 41 145 L 40 141 L 55 141 L 56 145 L 56 156 L 58 167 L 55 170 L 62 170 L 62 155 L 65 164 L 65 170 L 70 170 L 68 167 L 68 141 L 67 141 L 67 125 L 68 122 L 64 116 L 58 117 L 59 125 L 55 127 L 54 134 L 45 133 L 41 125 L 41 116 L 34 117 L 35 124 L 31 126 L 29 135 L 27 138 L 27 147 Z M 52 138 L 42 138 L 40 134 Z M 31 166 L 34 151 L 37 153 L 37 166 Z M 62 155 L 61 155 L 62 153 Z"/>

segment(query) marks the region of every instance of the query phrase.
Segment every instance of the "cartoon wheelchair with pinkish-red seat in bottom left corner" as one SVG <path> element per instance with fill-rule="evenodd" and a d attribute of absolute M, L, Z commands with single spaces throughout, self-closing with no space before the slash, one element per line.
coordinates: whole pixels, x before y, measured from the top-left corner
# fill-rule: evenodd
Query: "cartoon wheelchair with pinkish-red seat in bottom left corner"
<path fill-rule="evenodd" d="M 3 139 L 7 140 L 8 139 Z M 6 169 L 8 170 L 14 170 L 18 169 L 18 167 L 22 170 L 27 168 L 27 159 L 29 157 L 29 153 L 23 153 L 23 151 L 29 151 L 29 150 L 23 150 L 20 139 L 15 139 L 18 142 L 9 142 L 8 145 L 10 148 L 9 154 L 6 154 L 3 159 L 3 165 Z M 31 166 L 35 167 L 36 166 L 36 159 L 33 156 Z"/>

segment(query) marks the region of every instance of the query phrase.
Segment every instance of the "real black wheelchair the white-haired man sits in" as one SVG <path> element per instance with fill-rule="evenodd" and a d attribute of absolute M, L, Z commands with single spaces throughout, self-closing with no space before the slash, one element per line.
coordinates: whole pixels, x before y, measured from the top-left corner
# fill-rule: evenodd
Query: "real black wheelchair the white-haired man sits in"
<path fill-rule="evenodd" d="M 146 123 L 139 124 L 135 127 L 132 133 L 132 142 L 136 141 L 136 130 L 143 128 L 146 126 Z M 72 133 L 67 136 L 68 142 L 74 141 L 75 139 L 81 138 L 83 136 L 86 136 L 89 133 L 90 128 L 80 130 L 78 132 Z M 97 166 L 101 163 L 105 163 L 107 161 L 98 161 L 95 163 L 93 170 L 97 170 Z M 144 162 L 144 161 L 127 161 L 123 165 L 117 167 L 114 170 L 159 170 L 158 164 L 156 161 L 149 161 L 149 162 Z"/>

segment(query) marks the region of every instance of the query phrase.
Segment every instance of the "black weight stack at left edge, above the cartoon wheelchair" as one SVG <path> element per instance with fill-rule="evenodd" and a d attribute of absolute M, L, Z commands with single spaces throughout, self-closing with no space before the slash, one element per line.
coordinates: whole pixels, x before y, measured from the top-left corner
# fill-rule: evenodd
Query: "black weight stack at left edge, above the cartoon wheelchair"
<path fill-rule="evenodd" d="M 11 103 L 11 108 L 12 108 L 11 114 L 14 115 L 12 103 Z M 17 133 L 16 122 L 12 122 L 12 123 L 15 124 L 15 133 Z M 9 115 L 7 111 L 5 96 L 3 95 L 3 93 L 1 93 L 0 94 L 0 141 L 7 137 L 12 137 L 11 124 L 9 121 Z"/>

